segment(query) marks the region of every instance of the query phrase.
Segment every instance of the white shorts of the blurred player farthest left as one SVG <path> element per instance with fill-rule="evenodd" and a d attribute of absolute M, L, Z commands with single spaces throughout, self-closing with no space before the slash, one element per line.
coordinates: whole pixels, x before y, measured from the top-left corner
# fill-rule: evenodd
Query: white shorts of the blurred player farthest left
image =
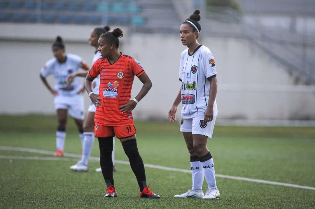
<path fill-rule="evenodd" d="M 54 98 L 55 110 L 66 109 L 72 118 L 84 119 L 84 103 L 82 95 L 74 96 L 55 96 Z"/>

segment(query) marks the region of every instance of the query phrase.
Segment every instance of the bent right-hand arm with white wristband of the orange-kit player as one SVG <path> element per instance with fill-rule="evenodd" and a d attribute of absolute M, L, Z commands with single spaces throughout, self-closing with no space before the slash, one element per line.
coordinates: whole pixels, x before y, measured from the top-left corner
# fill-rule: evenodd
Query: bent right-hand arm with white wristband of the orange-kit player
<path fill-rule="evenodd" d="M 152 82 L 148 76 L 148 74 L 143 73 L 142 75 L 140 75 L 139 80 L 143 83 L 143 86 L 140 90 L 140 92 L 138 93 L 138 95 L 135 97 L 135 99 L 139 102 L 144 96 L 146 96 L 146 94 L 149 92 L 149 90 L 152 87 Z M 119 109 L 121 112 L 123 113 L 129 113 L 131 112 L 133 109 L 135 109 L 137 105 L 137 102 L 135 102 L 134 100 L 129 100 L 125 105 L 120 106 Z"/>

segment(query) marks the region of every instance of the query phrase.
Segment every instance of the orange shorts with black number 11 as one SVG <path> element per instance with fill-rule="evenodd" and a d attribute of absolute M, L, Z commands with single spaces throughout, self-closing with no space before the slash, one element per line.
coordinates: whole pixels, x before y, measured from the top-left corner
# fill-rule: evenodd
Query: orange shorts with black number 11
<path fill-rule="evenodd" d="M 105 126 L 95 124 L 94 133 L 96 137 L 114 137 L 118 139 L 128 138 L 135 135 L 135 125 L 123 125 L 123 126 Z"/>

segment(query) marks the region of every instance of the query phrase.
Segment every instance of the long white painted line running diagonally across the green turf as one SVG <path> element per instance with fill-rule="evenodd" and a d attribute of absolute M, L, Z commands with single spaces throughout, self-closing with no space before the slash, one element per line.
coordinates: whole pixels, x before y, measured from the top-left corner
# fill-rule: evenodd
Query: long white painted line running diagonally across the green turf
<path fill-rule="evenodd" d="M 47 155 L 53 155 L 54 154 L 53 151 L 37 150 L 37 149 L 23 148 L 23 147 L 0 146 L 0 150 L 22 151 L 22 152 L 31 152 L 31 153 L 47 154 Z M 71 153 L 64 153 L 64 156 L 65 157 L 81 158 L 81 155 L 71 154 Z M 11 157 L 13 157 L 13 156 L 11 156 Z M 23 158 L 25 159 L 27 157 L 23 157 Z M 38 157 L 38 158 L 40 158 L 40 157 Z M 43 157 L 41 157 L 41 158 L 43 159 Z M 13 159 L 13 158 L 11 158 L 11 159 Z M 50 159 L 50 158 L 47 158 L 47 159 Z M 55 159 L 62 160 L 63 158 L 58 157 Z M 89 159 L 93 160 L 93 161 L 99 161 L 100 160 L 99 157 L 90 157 Z M 115 163 L 129 165 L 129 162 L 122 161 L 122 160 L 115 160 Z M 180 169 L 180 168 L 170 168 L 170 167 L 164 167 L 164 166 L 152 165 L 152 164 L 144 164 L 144 166 L 147 168 L 157 168 L 157 169 L 167 170 L 167 171 L 191 173 L 190 170 L 185 170 L 185 169 Z M 243 180 L 243 181 L 250 181 L 250 182 L 262 183 L 262 184 L 273 184 L 273 185 L 295 187 L 295 188 L 306 189 L 306 190 L 315 190 L 315 187 L 301 186 L 301 185 L 297 185 L 297 184 L 287 184 L 287 183 L 281 183 L 281 182 L 275 182 L 275 181 L 266 181 L 266 180 L 261 180 L 261 179 L 250 179 L 250 178 L 245 178 L 245 177 L 229 176 L 229 175 L 222 175 L 222 174 L 215 174 L 215 176 L 220 177 L 220 178 L 225 178 L 225 179 Z"/>

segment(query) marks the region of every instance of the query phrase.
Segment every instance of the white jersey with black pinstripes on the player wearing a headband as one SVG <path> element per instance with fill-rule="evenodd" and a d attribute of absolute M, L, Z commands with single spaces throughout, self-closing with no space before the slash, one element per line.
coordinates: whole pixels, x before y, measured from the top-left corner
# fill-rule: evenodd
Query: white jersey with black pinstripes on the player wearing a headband
<path fill-rule="evenodd" d="M 208 106 L 210 77 L 216 76 L 215 61 L 208 47 L 200 45 L 192 54 L 188 48 L 181 53 L 179 80 L 181 87 L 181 118 L 204 117 Z M 214 116 L 218 114 L 216 101 Z"/>

